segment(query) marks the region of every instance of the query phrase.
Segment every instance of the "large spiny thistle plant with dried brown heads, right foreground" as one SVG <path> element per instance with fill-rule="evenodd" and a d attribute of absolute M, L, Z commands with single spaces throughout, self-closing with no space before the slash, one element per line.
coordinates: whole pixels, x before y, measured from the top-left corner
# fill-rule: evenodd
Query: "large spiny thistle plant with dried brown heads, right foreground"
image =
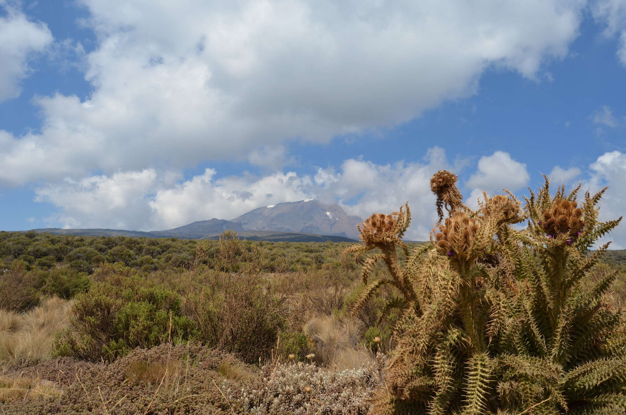
<path fill-rule="evenodd" d="M 608 243 L 590 248 L 621 219 L 598 220 L 606 189 L 578 201 L 580 186 L 551 194 L 546 179 L 523 208 L 513 194 L 485 194 L 473 211 L 455 181 L 433 176 L 439 223 L 406 261 L 391 247 L 404 248 L 408 221 L 386 250 L 363 231 L 351 250 L 381 248 L 364 274 L 382 260 L 410 293 L 372 413 L 625 414 L 626 320 L 605 300 L 617 272 L 585 288 Z"/>

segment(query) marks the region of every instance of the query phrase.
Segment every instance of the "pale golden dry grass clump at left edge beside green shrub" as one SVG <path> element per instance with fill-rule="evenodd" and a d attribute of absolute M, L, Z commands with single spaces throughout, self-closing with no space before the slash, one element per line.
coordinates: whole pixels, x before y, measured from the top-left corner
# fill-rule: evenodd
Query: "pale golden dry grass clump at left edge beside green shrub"
<path fill-rule="evenodd" d="M 54 336 L 68 327 L 71 301 L 47 298 L 26 313 L 0 309 L 0 362 L 46 360 Z"/>

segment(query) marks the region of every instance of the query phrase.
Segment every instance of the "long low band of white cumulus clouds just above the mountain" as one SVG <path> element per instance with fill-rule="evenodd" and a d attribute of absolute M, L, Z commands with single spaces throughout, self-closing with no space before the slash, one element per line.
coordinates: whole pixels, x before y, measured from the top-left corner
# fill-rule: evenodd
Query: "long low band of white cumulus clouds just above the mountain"
<path fill-rule="evenodd" d="M 442 149 L 428 150 L 422 162 L 374 164 L 345 160 L 316 174 L 274 172 L 216 178 L 206 169 L 187 180 L 172 171 L 118 172 L 110 176 L 66 179 L 36 189 L 37 200 L 58 206 L 49 218 L 54 226 L 160 230 L 192 221 L 233 219 L 260 206 L 285 201 L 319 199 L 339 202 L 350 214 L 367 217 L 391 212 L 408 201 L 413 213 L 409 238 L 428 238 L 436 221 L 430 177 L 449 165 Z"/>

